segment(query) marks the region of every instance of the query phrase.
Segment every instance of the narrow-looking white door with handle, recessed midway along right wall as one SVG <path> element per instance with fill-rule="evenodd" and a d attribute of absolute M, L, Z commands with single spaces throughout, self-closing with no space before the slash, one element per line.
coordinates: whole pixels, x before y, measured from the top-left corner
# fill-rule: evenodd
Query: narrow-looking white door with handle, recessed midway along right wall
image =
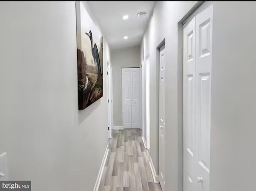
<path fill-rule="evenodd" d="M 165 45 L 159 58 L 159 181 L 165 191 Z"/>

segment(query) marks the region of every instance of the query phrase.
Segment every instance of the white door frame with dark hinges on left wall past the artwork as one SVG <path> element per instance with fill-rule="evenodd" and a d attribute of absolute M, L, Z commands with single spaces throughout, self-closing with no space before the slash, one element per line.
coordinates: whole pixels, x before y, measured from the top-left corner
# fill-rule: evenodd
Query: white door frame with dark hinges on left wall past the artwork
<path fill-rule="evenodd" d="M 108 98 L 107 98 L 107 108 L 108 108 L 108 138 L 112 138 L 113 129 L 113 82 L 112 82 L 112 66 L 111 62 L 107 62 L 107 79 L 108 79 Z"/>

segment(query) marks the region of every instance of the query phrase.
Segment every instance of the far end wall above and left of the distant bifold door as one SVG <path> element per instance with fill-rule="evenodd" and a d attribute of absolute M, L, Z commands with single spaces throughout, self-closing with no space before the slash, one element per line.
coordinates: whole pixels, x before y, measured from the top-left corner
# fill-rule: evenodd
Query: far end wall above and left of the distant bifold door
<path fill-rule="evenodd" d="M 114 126 L 122 126 L 122 68 L 140 67 L 140 47 L 128 47 L 111 51 L 113 75 Z"/>

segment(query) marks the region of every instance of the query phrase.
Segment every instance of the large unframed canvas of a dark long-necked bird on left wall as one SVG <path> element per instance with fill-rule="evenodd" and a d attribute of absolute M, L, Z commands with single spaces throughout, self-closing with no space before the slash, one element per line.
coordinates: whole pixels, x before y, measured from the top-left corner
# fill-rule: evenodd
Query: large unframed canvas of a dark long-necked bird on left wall
<path fill-rule="evenodd" d="M 76 2 L 78 109 L 103 94 L 103 37 L 82 2 Z"/>

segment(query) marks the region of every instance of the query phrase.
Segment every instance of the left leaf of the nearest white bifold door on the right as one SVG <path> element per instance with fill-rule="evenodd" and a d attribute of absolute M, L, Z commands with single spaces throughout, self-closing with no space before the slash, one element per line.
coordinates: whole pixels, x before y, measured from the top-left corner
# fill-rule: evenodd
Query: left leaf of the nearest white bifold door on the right
<path fill-rule="evenodd" d="M 183 32 L 183 137 L 184 191 L 196 190 L 195 171 L 195 17 Z"/>

